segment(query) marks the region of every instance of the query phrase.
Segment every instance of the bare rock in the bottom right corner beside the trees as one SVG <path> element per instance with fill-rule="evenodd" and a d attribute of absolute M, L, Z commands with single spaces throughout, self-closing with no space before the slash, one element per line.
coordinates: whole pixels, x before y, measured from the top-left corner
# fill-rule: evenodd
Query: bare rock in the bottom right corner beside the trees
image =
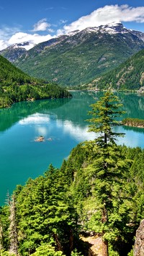
<path fill-rule="evenodd" d="M 136 231 L 134 256 L 144 256 L 144 219 Z"/>

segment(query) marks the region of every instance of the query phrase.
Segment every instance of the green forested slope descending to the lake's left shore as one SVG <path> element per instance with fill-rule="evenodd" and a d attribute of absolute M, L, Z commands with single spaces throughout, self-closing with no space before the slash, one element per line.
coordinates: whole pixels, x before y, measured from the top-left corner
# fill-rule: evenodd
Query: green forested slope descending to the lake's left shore
<path fill-rule="evenodd" d="M 71 97 L 71 94 L 46 81 L 31 78 L 0 56 L 0 107 L 9 107 L 23 100 Z"/>

